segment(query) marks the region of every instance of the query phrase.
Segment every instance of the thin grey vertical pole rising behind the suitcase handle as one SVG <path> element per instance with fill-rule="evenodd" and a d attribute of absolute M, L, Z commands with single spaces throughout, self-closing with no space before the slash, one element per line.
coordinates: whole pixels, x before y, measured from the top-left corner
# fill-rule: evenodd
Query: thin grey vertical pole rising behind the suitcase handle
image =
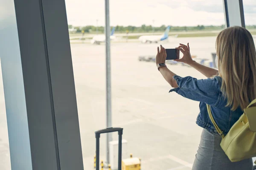
<path fill-rule="evenodd" d="M 106 90 L 107 90 L 107 114 L 106 124 L 107 127 L 112 127 L 111 118 L 111 65 L 110 65 L 110 24 L 109 24 L 109 0 L 105 0 L 105 42 L 106 42 Z M 107 133 L 107 164 L 109 160 L 109 142 L 112 141 L 111 133 Z"/>

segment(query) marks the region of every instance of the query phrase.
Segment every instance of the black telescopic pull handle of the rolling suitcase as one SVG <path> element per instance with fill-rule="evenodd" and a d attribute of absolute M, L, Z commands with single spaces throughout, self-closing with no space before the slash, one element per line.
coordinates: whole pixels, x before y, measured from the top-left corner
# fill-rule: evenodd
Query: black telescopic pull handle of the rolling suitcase
<path fill-rule="evenodd" d="M 118 170 L 122 169 L 122 131 L 120 127 L 108 127 L 95 132 L 96 137 L 96 170 L 99 170 L 99 138 L 101 133 L 118 132 Z"/>

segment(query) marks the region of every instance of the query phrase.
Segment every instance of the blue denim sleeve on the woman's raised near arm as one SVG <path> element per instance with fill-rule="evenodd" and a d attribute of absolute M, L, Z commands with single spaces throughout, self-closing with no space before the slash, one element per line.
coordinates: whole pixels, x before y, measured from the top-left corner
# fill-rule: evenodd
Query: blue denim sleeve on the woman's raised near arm
<path fill-rule="evenodd" d="M 196 79 L 193 77 L 180 77 L 175 75 L 173 77 L 178 88 L 174 88 L 169 92 L 175 91 L 183 97 L 199 102 L 207 103 L 208 105 L 216 105 L 220 92 L 220 83 L 215 78 Z"/>

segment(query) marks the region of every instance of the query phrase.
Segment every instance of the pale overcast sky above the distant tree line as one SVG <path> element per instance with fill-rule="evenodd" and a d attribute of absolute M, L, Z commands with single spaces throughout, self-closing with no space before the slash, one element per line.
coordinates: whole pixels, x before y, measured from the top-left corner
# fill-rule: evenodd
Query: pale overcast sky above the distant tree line
<path fill-rule="evenodd" d="M 65 0 L 68 23 L 105 25 L 105 0 Z M 256 25 L 256 0 L 244 0 L 246 25 Z M 197 26 L 225 23 L 223 0 L 110 0 L 111 26 Z"/>

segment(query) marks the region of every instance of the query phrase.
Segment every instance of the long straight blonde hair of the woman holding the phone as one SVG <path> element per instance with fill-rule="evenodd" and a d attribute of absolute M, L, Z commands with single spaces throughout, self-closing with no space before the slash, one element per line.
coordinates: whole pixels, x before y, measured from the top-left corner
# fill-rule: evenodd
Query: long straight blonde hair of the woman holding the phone
<path fill-rule="evenodd" d="M 221 91 L 232 110 L 256 98 L 256 51 L 253 37 L 239 26 L 226 28 L 216 40 Z"/>

